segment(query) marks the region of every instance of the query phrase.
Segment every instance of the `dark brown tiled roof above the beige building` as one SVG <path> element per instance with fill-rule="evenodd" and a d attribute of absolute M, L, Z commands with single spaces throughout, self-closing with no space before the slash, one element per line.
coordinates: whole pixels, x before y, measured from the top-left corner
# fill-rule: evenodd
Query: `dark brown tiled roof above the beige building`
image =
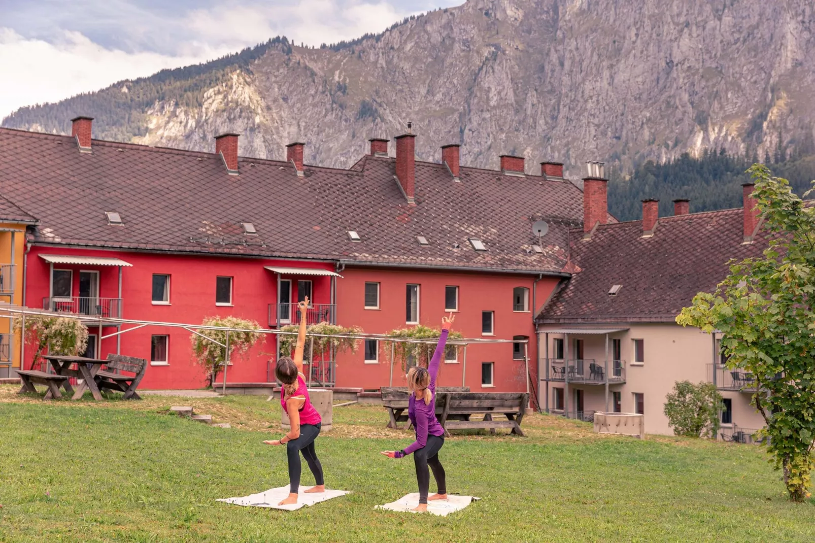
<path fill-rule="evenodd" d="M 571 279 L 538 316 L 542 323 L 669 322 L 700 291 L 712 292 L 731 258 L 760 256 L 759 234 L 742 245 L 743 210 L 662 217 L 654 236 L 642 221 L 597 227 L 591 240 L 571 231 Z M 613 285 L 622 285 L 609 296 Z"/>

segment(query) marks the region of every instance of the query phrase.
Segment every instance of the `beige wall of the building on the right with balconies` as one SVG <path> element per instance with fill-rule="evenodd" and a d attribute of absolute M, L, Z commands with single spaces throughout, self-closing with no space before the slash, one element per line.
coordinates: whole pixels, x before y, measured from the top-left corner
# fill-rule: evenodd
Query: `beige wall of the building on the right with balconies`
<path fill-rule="evenodd" d="M 588 326 L 585 326 L 588 328 Z M 600 328 L 600 325 L 595 325 Z M 547 330 L 577 329 L 579 325 L 552 325 L 540 326 L 540 375 L 546 375 L 546 360 L 544 350 L 544 334 Z M 582 390 L 584 395 L 584 411 L 613 411 L 612 392 L 620 393 L 621 410 L 623 413 L 635 413 L 635 393 L 643 395 L 645 405 L 645 432 L 648 434 L 672 435 L 673 432 L 667 424 L 667 417 L 663 411 L 665 396 L 672 391 L 677 381 L 707 382 L 711 380 L 711 364 L 713 362 L 713 342 L 711 335 L 702 333 L 699 329 L 683 328 L 678 324 L 614 324 L 606 326 L 608 329 L 627 329 L 622 332 L 609 334 L 609 371 L 612 368 L 611 340 L 621 340 L 621 358 L 625 361 L 625 382 L 609 386 L 608 408 L 606 409 L 606 386 L 603 384 L 569 384 L 568 411 L 575 411 L 575 391 Z M 549 355 L 553 358 L 555 338 L 563 338 L 562 333 L 549 333 Z M 569 334 L 568 358 L 575 359 L 574 340 L 582 339 L 584 345 L 584 360 L 595 360 L 601 366 L 606 360 L 606 336 L 604 334 Z M 634 340 L 643 340 L 644 357 L 641 363 L 634 360 Z M 586 363 L 588 364 L 588 363 Z M 550 371 L 549 375 L 552 373 Z M 549 382 L 549 408 L 553 409 L 553 388 L 563 388 L 564 382 Z M 546 382 L 541 382 L 541 401 L 545 402 Z M 722 391 L 722 396 L 730 398 L 733 402 L 733 422 L 739 427 L 759 429 L 764 426 L 764 420 L 755 408 L 751 407 L 751 394 L 738 391 Z"/>

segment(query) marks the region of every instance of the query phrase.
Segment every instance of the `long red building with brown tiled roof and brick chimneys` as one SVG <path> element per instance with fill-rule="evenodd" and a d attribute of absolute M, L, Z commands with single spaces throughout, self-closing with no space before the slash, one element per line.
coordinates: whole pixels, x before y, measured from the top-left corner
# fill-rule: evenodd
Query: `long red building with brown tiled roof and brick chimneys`
<path fill-rule="evenodd" d="M 583 222 L 583 196 L 562 165 L 526 174 L 521 157 L 501 170 L 459 165 L 458 145 L 439 163 L 415 160 L 414 135 L 372 139 L 348 170 L 306 166 L 303 143 L 286 161 L 238 157 L 237 135 L 215 153 L 0 129 L 0 191 L 37 219 L 27 232 L 23 304 L 86 317 L 89 355 L 150 360 L 145 388 L 194 388 L 205 375 L 190 333 L 111 319 L 198 324 L 239 316 L 275 329 L 309 295 L 309 320 L 386 333 L 438 326 L 457 311 L 465 338 L 530 340 L 534 316 L 569 274 L 568 230 Z M 539 237 L 533 224 L 544 221 Z M 99 328 L 102 336 L 99 339 Z M 121 332 L 114 335 L 117 331 Z M 378 347 L 378 348 L 377 348 Z M 274 335 L 229 370 L 230 382 L 268 382 Z M 326 381 L 377 389 L 390 355 L 375 342 L 341 354 Z M 471 345 L 473 390 L 526 390 L 522 344 Z M 452 351 L 442 384 L 460 385 Z M 30 365 L 31 351 L 25 351 Z M 536 364 L 530 364 L 535 369 Z M 536 377 L 533 377 L 536 379 Z M 394 385 L 402 384 L 394 368 Z M 534 390 L 535 387 L 532 386 Z"/>

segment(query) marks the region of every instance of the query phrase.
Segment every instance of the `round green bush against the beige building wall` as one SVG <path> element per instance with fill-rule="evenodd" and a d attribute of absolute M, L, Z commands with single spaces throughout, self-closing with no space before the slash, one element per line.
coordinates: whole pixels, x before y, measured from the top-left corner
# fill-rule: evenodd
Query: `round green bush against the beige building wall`
<path fill-rule="evenodd" d="M 665 396 L 665 416 L 673 433 L 685 437 L 716 437 L 722 401 L 716 385 L 677 381 Z"/>

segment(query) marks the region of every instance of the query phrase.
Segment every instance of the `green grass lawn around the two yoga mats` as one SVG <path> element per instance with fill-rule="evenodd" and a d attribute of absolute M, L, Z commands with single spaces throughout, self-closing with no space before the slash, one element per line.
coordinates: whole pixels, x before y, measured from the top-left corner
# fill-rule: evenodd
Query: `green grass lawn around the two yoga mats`
<path fill-rule="evenodd" d="M 761 448 L 594 435 L 560 417 L 528 437 L 447 439 L 448 490 L 482 497 L 446 518 L 374 510 L 416 492 L 410 442 L 384 409 L 335 409 L 317 451 L 330 488 L 294 512 L 215 501 L 288 483 L 280 404 L 265 397 L 52 401 L 0 386 L 0 541 L 812 541 L 815 503 L 791 504 Z M 212 413 L 231 429 L 168 414 Z M 303 462 L 303 481 L 311 473 Z M 431 482 L 431 492 L 434 483 Z"/>

